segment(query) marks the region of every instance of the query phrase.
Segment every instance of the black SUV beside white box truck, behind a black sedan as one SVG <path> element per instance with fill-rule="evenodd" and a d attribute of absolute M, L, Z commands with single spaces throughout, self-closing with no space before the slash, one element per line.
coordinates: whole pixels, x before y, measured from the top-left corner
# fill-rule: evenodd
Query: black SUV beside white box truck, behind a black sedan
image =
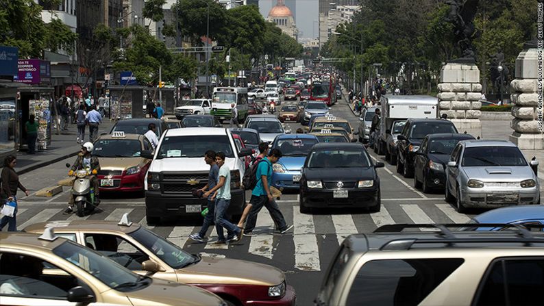
<path fill-rule="evenodd" d="M 444 119 L 408 119 L 397 136 L 397 173 L 414 175 L 414 159 L 421 141 L 428 134 L 458 133 L 454 123 Z"/>

